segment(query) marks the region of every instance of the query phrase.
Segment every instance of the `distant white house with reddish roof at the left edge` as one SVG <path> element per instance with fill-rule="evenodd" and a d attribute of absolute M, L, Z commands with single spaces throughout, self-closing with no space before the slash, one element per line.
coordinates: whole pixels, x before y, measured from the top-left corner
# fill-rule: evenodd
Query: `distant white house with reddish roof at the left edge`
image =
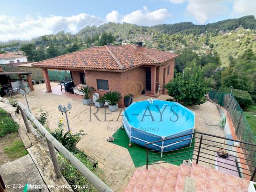
<path fill-rule="evenodd" d="M 0 64 L 9 64 L 9 63 L 23 63 L 27 62 L 26 55 L 13 54 L 13 53 L 2 53 L 0 54 Z"/>

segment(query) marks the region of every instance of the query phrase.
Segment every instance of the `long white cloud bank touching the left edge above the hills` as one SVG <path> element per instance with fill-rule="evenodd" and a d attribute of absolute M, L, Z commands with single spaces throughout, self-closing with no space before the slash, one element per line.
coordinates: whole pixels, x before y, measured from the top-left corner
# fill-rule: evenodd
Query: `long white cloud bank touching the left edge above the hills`
<path fill-rule="evenodd" d="M 13 39 L 28 40 L 45 34 L 57 33 L 61 30 L 77 33 L 87 25 L 100 25 L 103 21 L 100 17 L 80 13 L 71 17 L 49 16 L 36 19 L 27 15 L 24 21 L 15 17 L 0 15 L 0 41 Z"/>

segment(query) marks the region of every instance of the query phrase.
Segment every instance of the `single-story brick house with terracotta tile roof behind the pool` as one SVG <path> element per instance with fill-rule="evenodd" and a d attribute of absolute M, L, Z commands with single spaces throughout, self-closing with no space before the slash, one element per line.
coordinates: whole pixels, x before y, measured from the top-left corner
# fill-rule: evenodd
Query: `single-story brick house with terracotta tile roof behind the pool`
<path fill-rule="evenodd" d="M 69 70 L 75 86 L 93 86 L 100 96 L 117 91 L 122 96 L 118 104 L 123 106 L 123 98 L 130 91 L 136 95 L 145 89 L 152 96 L 156 95 L 158 86 L 173 79 L 177 56 L 135 45 L 94 46 L 33 65 L 42 68 L 48 92 L 51 92 L 51 85 L 47 70 Z"/>

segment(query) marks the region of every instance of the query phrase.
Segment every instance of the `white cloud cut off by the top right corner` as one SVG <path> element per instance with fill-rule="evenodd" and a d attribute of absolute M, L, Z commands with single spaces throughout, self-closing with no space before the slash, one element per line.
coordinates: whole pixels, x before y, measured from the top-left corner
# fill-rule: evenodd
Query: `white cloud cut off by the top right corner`
<path fill-rule="evenodd" d="M 254 15 L 256 17 L 255 0 L 236 0 L 231 14 L 235 16 Z"/>

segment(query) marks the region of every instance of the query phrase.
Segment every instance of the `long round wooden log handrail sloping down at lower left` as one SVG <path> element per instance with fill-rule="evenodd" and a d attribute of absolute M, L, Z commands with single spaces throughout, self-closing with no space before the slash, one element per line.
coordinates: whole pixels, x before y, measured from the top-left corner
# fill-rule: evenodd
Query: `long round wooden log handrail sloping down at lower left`
<path fill-rule="evenodd" d="M 59 152 L 61 152 L 71 164 L 78 169 L 81 174 L 88 179 L 88 181 L 94 185 L 100 192 L 113 192 L 101 179 L 99 179 L 93 172 L 91 172 L 79 159 L 77 159 L 71 152 L 69 152 L 57 139 L 55 139 L 42 124 L 30 113 L 21 102 L 18 102 L 21 113 L 25 113 L 26 116 L 35 124 L 38 130 L 45 136 Z M 25 119 L 24 119 L 25 121 Z M 55 168 L 55 167 L 54 167 Z M 56 170 L 55 170 L 56 171 Z"/>

